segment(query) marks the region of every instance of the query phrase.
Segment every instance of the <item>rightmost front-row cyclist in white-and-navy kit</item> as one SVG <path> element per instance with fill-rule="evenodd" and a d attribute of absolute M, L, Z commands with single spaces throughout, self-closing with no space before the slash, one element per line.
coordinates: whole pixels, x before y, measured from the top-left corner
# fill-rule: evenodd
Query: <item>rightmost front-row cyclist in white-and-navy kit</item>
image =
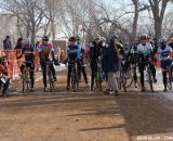
<path fill-rule="evenodd" d="M 171 61 L 171 55 L 170 53 L 173 52 L 172 48 L 170 46 L 167 46 L 165 39 L 160 39 L 159 40 L 159 49 L 158 49 L 158 54 L 159 54 L 159 60 L 161 61 L 161 69 L 162 69 L 162 76 L 163 76 L 163 85 L 164 89 L 163 91 L 167 92 L 167 68 L 171 67 L 172 61 Z"/>

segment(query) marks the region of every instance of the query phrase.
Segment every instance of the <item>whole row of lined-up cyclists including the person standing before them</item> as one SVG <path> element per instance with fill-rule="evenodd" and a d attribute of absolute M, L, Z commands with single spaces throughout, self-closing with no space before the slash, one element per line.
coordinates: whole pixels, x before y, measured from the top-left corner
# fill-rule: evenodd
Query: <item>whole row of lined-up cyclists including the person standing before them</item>
<path fill-rule="evenodd" d="M 9 36 L 3 41 L 5 48 L 9 48 Z M 43 91 L 48 91 L 46 85 L 46 63 L 49 62 L 50 69 L 53 75 L 54 81 L 57 80 L 56 73 L 54 68 L 55 65 L 59 65 L 58 57 L 55 57 L 54 48 L 50 42 L 49 36 L 43 36 L 41 42 L 37 43 L 37 47 L 31 46 L 30 39 L 25 39 L 21 41 L 18 39 L 16 48 L 22 49 L 22 53 L 17 56 L 19 60 L 22 56 L 25 57 L 25 63 L 21 66 L 21 73 L 25 67 L 29 67 L 29 77 L 31 80 L 31 92 L 35 90 L 35 49 L 37 48 L 39 52 L 40 66 L 43 76 Z M 97 75 L 98 72 L 102 74 L 102 81 L 106 81 L 105 93 L 109 94 L 119 93 L 117 74 L 123 69 L 124 73 L 128 72 L 130 65 L 135 65 L 133 68 L 135 87 L 137 85 L 137 74 L 139 74 L 141 88 L 144 92 L 146 90 L 145 86 L 145 67 L 148 65 L 152 74 L 152 82 L 157 82 L 156 78 L 156 62 L 159 59 L 161 63 L 162 70 L 162 81 L 163 91 L 168 91 L 168 68 L 173 67 L 171 53 L 173 52 L 173 38 L 169 41 L 161 39 L 152 39 L 146 34 L 139 36 L 138 41 L 133 43 L 133 46 L 128 46 L 122 42 L 118 35 L 114 34 L 107 38 L 101 37 L 99 35 L 93 36 L 93 41 L 88 43 L 88 46 L 82 42 L 81 37 L 74 36 L 68 39 L 67 46 L 67 57 L 63 63 L 67 64 L 67 85 L 66 90 L 70 91 L 71 86 L 71 75 L 74 70 L 74 64 L 77 64 L 76 73 L 78 76 L 77 81 L 79 82 L 81 78 L 84 78 L 86 89 L 94 91 L 97 89 Z M 89 74 L 86 73 L 85 56 L 89 55 L 89 66 L 90 66 L 90 81 Z M 158 56 L 156 55 L 158 54 Z M 53 64 L 54 63 L 54 64 Z M 6 97 L 10 78 L 8 76 L 6 64 L 4 59 L 0 57 L 0 86 L 2 87 L 2 95 Z M 138 73 L 137 73 L 138 72 Z"/>

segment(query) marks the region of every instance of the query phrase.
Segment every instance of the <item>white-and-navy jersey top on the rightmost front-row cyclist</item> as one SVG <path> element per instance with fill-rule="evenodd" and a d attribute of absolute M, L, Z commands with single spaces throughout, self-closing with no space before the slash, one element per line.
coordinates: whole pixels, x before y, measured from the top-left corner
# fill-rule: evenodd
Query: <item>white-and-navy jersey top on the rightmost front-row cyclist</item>
<path fill-rule="evenodd" d="M 170 52 L 173 52 L 170 46 L 167 46 L 163 50 L 161 48 L 158 49 L 159 60 L 170 60 Z"/>

